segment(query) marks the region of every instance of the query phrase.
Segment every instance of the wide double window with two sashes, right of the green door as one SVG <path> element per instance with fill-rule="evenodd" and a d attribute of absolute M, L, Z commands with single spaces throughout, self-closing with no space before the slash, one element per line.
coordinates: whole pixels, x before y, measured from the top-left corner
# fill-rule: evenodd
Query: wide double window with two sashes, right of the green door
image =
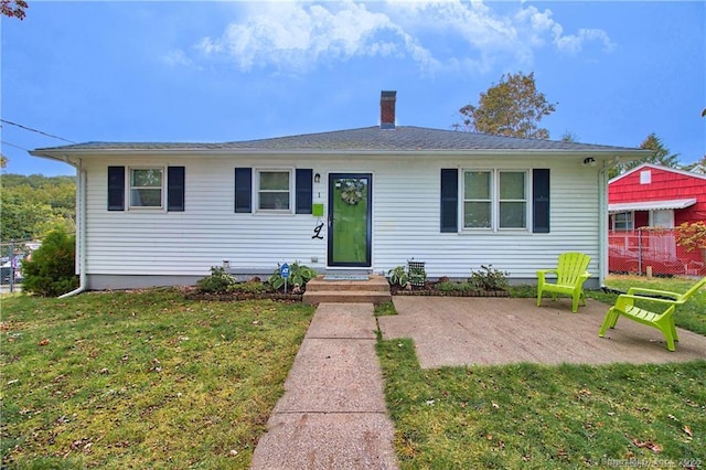
<path fill-rule="evenodd" d="M 527 172 L 463 171 L 463 228 L 527 228 Z"/>

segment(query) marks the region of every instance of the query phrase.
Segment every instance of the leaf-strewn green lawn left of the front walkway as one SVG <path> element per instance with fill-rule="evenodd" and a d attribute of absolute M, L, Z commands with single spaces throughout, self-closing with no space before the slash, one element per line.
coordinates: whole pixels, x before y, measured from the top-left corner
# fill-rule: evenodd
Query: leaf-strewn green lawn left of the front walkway
<path fill-rule="evenodd" d="M 313 308 L 2 298 L 6 468 L 248 468 Z"/>

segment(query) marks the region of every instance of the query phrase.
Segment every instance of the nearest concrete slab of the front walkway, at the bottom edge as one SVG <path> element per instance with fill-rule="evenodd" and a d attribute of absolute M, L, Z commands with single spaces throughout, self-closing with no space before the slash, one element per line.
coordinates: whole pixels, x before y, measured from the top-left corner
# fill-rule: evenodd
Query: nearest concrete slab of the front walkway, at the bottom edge
<path fill-rule="evenodd" d="M 279 414 L 252 469 L 397 469 L 394 428 L 383 414 Z"/>

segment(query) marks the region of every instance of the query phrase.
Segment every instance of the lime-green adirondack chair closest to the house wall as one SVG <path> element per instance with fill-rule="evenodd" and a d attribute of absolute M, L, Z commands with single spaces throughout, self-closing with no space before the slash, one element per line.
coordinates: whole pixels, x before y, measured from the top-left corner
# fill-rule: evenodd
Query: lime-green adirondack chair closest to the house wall
<path fill-rule="evenodd" d="M 588 255 L 568 252 L 559 255 L 556 268 L 537 270 L 537 307 L 542 306 L 543 292 L 550 292 L 554 300 L 561 293 L 571 297 L 571 311 L 576 313 L 580 300 L 586 305 L 584 282 L 591 277 L 586 270 L 590 260 Z M 556 276 L 556 281 L 547 281 L 547 275 Z"/>

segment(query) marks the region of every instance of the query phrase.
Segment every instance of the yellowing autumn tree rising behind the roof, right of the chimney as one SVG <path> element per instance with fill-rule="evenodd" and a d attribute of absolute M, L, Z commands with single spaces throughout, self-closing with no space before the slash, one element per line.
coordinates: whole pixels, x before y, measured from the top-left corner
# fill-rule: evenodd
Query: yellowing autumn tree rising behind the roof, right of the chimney
<path fill-rule="evenodd" d="M 548 139 L 549 131 L 541 128 L 539 121 L 555 110 L 556 104 L 537 92 L 534 72 L 503 74 L 499 84 L 480 94 L 478 106 L 466 105 L 459 109 L 462 124 L 453 127 L 498 136 Z"/>

